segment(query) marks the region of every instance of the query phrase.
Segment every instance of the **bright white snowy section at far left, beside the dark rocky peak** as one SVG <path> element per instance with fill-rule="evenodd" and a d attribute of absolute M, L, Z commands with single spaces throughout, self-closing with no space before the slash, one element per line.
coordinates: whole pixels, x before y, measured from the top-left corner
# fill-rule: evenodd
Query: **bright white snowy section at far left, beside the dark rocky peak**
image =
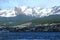
<path fill-rule="evenodd" d="M 14 10 L 0 10 L 0 17 L 15 17 Z"/>

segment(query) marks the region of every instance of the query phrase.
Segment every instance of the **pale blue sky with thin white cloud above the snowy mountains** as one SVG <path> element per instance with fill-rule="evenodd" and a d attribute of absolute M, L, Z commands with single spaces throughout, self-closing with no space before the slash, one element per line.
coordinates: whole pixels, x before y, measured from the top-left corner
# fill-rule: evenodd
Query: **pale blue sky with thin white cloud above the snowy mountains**
<path fill-rule="evenodd" d="M 60 0 L 0 0 L 0 9 L 12 9 L 15 6 L 51 8 L 60 6 Z"/>

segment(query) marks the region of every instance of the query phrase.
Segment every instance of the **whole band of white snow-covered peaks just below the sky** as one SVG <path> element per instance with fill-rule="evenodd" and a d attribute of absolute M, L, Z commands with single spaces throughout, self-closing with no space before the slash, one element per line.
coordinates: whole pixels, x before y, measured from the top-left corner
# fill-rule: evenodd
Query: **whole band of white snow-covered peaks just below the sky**
<path fill-rule="evenodd" d="M 60 14 L 57 13 L 60 11 L 60 7 L 55 8 L 40 8 L 40 7 L 15 7 L 12 10 L 0 10 L 0 17 L 16 17 L 18 15 L 26 15 L 26 16 L 32 16 L 32 17 L 45 17 L 50 15 L 56 15 Z"/>

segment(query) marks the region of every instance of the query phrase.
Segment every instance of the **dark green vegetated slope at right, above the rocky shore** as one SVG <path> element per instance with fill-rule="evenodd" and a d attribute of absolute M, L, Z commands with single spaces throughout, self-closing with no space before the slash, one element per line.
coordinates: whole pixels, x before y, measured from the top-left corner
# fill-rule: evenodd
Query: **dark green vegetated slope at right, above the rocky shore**
<path fill-rule="evenodd" d="M 51 24 L 51 23 L 60 23 L 60 18 L 40 18 L 32 21 L 32 24 Z"/>

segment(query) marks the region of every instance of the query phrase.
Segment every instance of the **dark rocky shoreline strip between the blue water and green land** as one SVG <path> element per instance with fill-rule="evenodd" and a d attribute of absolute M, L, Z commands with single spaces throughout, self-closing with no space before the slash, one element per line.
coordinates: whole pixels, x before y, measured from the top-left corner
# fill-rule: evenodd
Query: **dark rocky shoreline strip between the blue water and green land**
<path fill-rule="evenodd" d="M 60 32 L 60 23 L 43 24 L 43 25 L 30 25 L 27 27 L 14 27 L 14 26 L 0 26 L 0 30 L 8 30 L 10 32 Z"/>

